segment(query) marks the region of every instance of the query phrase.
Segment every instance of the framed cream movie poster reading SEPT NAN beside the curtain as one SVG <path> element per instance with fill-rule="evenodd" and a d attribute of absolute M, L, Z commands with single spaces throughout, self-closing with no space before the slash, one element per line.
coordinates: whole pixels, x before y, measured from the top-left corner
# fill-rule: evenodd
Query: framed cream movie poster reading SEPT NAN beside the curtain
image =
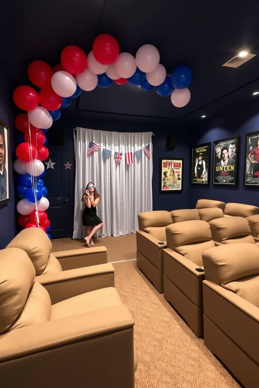
<path fill-rule="evenodd" d="M 183 159 L 160 159 L 160 191 L 183 191 Z"/>

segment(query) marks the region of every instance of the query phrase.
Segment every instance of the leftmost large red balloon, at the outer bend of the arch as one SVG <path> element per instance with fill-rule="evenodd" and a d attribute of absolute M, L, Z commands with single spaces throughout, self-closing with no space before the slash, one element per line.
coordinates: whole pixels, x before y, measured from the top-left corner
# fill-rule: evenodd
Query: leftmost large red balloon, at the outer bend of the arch
<path fill-rule="evenodd" d="M 40 97 L 36 90 L 26 85 L 18 86 L 14 90 L 13 98 L 17 107 L 27 112 L 37 108 L 40 102 Z"/>

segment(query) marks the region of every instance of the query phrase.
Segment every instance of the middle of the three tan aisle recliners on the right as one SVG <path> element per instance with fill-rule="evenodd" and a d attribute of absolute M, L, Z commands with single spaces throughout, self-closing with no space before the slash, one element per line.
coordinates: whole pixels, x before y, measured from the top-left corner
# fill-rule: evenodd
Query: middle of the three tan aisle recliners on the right
<path fill-rule="evenodd" d="M 177 222 L 165 228 L 163 250 L 164 298 L 186 320 L 196 336 L 203 335 L 202 252 L 215 246 L 209 223 Z M 197 270 L 198 269 L 198 270 Z"/>

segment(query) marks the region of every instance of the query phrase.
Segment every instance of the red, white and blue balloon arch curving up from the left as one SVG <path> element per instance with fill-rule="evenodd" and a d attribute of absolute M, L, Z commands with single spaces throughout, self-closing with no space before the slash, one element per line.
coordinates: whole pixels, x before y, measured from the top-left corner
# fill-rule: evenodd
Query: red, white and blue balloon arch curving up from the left
<path fill-rule="evenodd" d="M 18 223 L 22 228 L 39 227 L 51 239 L 50 221 L 45 210 L 49 207 L 47 188 L 43 177 L 43 161 L 49 156 L 45 132 L 61 116 L 61 109 L 70 105 L 82 90 L 90 92 L 97 86 L 108 88 L 114 81 L 118 85 L 129 82 L 144 91 L 156 87 L 162 96 L 170 95 L 175 107 L 188 104 L 188 89 L 192 72 L 188 66 L 178 66 L 167 75 L 160 63 L 155 46 L 141 46 L 134 58 L 128 52 L 120 53 L 116 39 L 109 34 L 97 36 L 92 51 L 85 55 L 80 47 L 67 46 L 61 52 L 61 64 L 53 69 L 44 61 L 33 61 L 28 66 L 28 78 L 38 89 L 19 86 L 13 99 L 17 107 L 26 111 L 15 118 L 15 126 L 22 132 L 16 147 L 14 170 L 17 178 Z"/>

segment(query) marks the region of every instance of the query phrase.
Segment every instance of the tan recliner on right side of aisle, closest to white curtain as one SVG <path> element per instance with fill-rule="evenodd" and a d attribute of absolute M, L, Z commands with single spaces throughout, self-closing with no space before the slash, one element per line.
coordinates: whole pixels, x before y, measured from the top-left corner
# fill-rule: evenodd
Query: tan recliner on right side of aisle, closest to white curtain
<path fill-rule="evenodd" d="M 137 215 L 137 267 L 163 293 L 163 248 L 166 247 L 165 227 L 172 223 L 166 210 L 145 211 Z"/>

